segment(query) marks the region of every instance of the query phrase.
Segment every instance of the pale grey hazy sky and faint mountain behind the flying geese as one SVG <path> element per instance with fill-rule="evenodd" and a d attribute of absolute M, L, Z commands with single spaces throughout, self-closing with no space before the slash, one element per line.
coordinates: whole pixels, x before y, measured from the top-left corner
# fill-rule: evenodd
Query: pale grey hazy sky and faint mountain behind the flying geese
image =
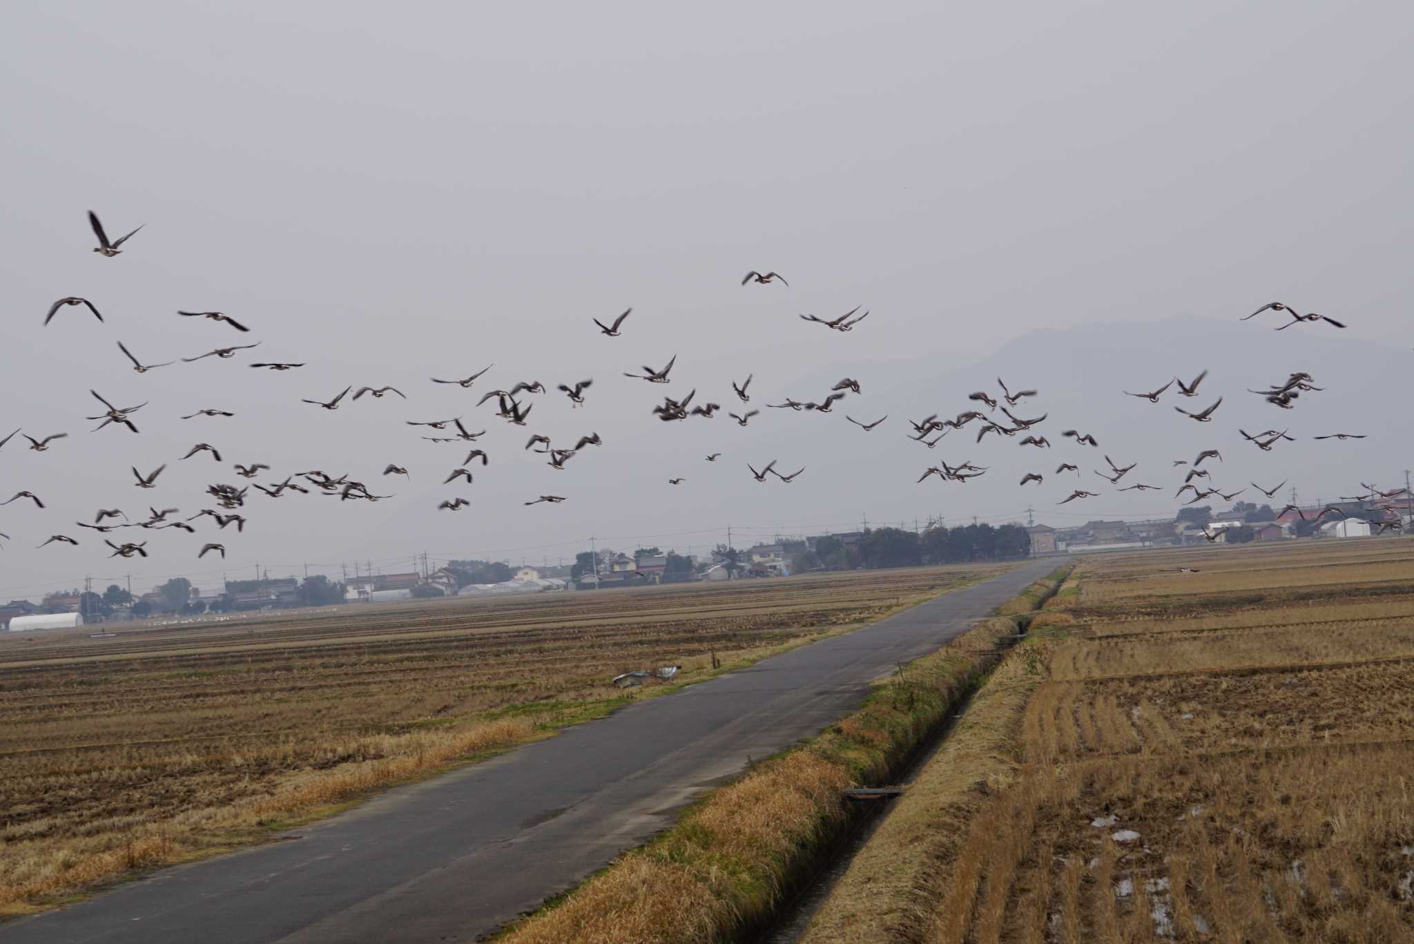
<path fill-rule="evenodd" d="M 1247 410 L 1256 398 L 1241 386 L 1288 369 L 1322 379 L 1309 359 L 1267 359 L 1277 343 L 1319 352 L 1314 344 L 1339 334 L 1343 347 L 1329 350 L 1342 357 L 1414 357 L 1407 4 L 939 7 L 6 4 L 0 436 L 23 426 L 69 437 L 47 453 L 17 437 L 0 453 L 6 497 L 30 488 L 49 505 L 0 508 L 13 538 L 0 597 L 85 575 L 106 585 L 132 573 L 134 587 L 188 575 L 211 587 L 257 562 L 273 575 L 305 562 L 337 575 L 355 559 L 395 570 L 421 551 L 553 562 L 591 534 L 701 549 L 728 522 L 745 545 L 776 526 L 843 529 L 864 515 L 1000 521 L 1028 501 L 1053 508 L 1068 483 L 1018 491 L 1014 440 L 929 451 L 904 439 L 904 419 L 964 409 L 973 384 L 990 379 L 969 365 L 994 365 L 998 348 L 1042 328 L 1118 324 L 1130 333 L 1114 337 L 1133 338 L 1113 352 L 1114 376 L 1099 378 L 1072 348 L 1106 331 L 1031 337 L 1055 395 L 1196 372 L 1206 364 L 1169 362 L 1165 338 L 1198 351 L 1210 338 L 1237 345 L 1234 367 L 1250 358 L 1250 375 L 1212 382 Z M 89 208 L 112 235 L 147 228 L 105 259 L 89 251 Z M 747 269 L 776 269 L 790 287 L 741 287 Z M 66 294 L 92 299 L 107 323 L 65 309 L 41 328 Z M 1274 299 L 1350 327 L 1278 335 L 1280 316 L 1233 321 Z M 857 304 L 872 314 L 850 334 L 796 317 Z M 624 337 L 595 331 L 591 317 L 628 306 Z M 253 331 L 177 309 L 219 309 Z M 165 361 L 246 338 L 262 347 L 141 376 L 115 344 Z M 674 352 L 669 386 L 622 376 Z M 308 367 L 271 374 L 252 359 Z M 471 391 L 428 382 L 492 362 Z M 1383 368 L 1389 388 L 1367 392 L 1398 389 L 1396 364 Z M 747 429 L 649 413 L 662 393 L 693 386 L 697 402 L 737 409 L 728 381 L 748 372 L 751 406 L 819 399 L 846 374 L 864 393 L 831 416 L 766 409 Z M 553 391 L 585 378 L 595 384 L 583 409 Z M 530 398 L 529 427 L 474 408 L 518 379 L 551 388 Z M 410 399 L 363 398 L 335 413 L 300 403 L 349 384 L 393 384 Z M 134 415 L 141 433 L 90 434 L 90 386 L 124 405 L 150 401 Z M 1046 396 L 1029 412 L 1065 402 Z M 1331 409 L 1350 393 L 1324 396 Z M 1094 409 L 1118 427 L 1134 405 L 1148 406 Z M 1346 399 L 1348 413 L 1332 412 L 1384 439 L 1357 453 L 1308 449 L 1302 493 L 1333 495 L 1356 471 L 1389 480 L 1408 466 L 1407 410 L 1400 420 L 1394 406 Z M 236 418 L 178 419 L 198 408 Z M 1154 409 L 1174 434 L 1243 446 L 1226 413 L 1199 430 Z M 1301 418 L 1267 409 L 1260 429 Z M 864 434 L 844 412 L 891 418 Z M 1076 412 L 1038 432 L 1058 439 L 1089 419 Z M 464 444 L 423 442 L 403 420 L 455 415 L 491 430 L 491 466 L 477 466 L 472 485 L 441 487 Z M 1152 432 L 1155 449 L 1167 429 Z M 605 446 L 566 471 L 522 451 L 532 432 L 561 443 L 590 430 Z M 177 461 L 197 442 L 226 461 Z M 724 457 L 707 464 L 708 451 Z M 1053 467 L 1063 451 L 1035 464 Z M 926 466 L 964 457 L 994 460 L 997 474 L 915 487 Z M 769 459 L 807 471 L 758 485 L 744 463 Z M 1174 478 L 1167 453 L 1135 459 L 1162 476 L 1155 484 Z M 252 493 L 245 535 L 222 534 L 223 566 L 195 560 L 218 539 L 206 522 L 197 535 L 113 535 L 148 539 L 147 560 L 107 560 L 102 536 L 74 525 L 99 507 L 194 514 L 209 507 L 208 483 L 243 481 L 232 461 L 257 460 L 274 480 L 317 467 L 397 497 L 341 505 Z M 413 481 L 380 478 L 389 461 Z M 129 466 L 161 463 L 158 490 L 133 487 Z M 687 483 L 670 487 L 672 476 Z M 542 493 L 568 501 L 522 505 Z M 1137 494 L 1096 510 L 1172 512 L 1171 493 Z M 451 495 L 471 508 L 438 512 Z M 35 551 L 51 534 L 82 545 Z"/>

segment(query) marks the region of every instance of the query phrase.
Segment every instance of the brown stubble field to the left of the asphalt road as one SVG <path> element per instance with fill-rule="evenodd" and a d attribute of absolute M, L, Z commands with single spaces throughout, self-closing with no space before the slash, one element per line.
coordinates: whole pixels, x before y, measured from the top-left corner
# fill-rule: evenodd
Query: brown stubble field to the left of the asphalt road
<path fill-rule="evenodd" d="M 995 573 L 957 566 L 0 634 L 0 913 L 212 849 Z"/>

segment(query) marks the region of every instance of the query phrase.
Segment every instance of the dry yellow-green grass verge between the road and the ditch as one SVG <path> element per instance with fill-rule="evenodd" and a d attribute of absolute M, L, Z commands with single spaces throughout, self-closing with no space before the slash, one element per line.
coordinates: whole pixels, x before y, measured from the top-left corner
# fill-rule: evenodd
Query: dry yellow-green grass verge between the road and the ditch
<path fill-rule="evenodd" d="M 1056 582 L 1041 585 L 1028 587 L 1034 600 Z M 846 824 L 840 791 L 888 777 L 997 664 L 1015 627 L 984 620 L 905 665 L 858 712 L 713 791 L 662 836 L 499 940 L 714 941 L 761 926 Z"/>

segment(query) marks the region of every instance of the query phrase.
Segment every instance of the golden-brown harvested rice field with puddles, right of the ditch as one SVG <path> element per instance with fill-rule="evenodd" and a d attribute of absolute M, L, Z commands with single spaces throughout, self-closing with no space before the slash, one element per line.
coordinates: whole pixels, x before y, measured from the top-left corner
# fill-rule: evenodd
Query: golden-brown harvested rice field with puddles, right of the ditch
<path fill-rule="evenodd" d="M 1082 560 L 805 940 L 1414 941 L 1414 541 Z"/>

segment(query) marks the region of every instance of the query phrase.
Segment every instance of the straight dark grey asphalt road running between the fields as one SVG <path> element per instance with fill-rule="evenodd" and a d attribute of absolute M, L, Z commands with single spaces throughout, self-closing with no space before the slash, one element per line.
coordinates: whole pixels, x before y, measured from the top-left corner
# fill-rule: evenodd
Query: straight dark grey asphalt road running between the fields
<path fill-rule="evenodd" d="M 0 944 L 475 941 L 848 713 L 1053 568 L 1034 562 L 410 787 L 283 841 L 0 926 Z"/>

